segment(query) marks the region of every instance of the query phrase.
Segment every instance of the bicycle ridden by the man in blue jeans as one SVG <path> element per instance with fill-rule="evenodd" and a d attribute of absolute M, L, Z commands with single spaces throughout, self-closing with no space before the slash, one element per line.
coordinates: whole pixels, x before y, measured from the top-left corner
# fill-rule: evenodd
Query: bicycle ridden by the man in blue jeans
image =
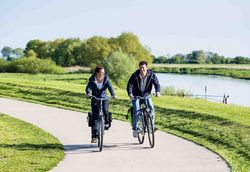
<path fill-rule="evenodd" d="M 140 144 L 144 143 L 145 133 L 148 133 L 148 140 L 150 147 L 153 148 L 155 144 L 154 136 L 154 124 L 153 119 L 150 116 L 149 108 L 146 100 L 150 98 L 151 95 L 146 97 L 136 96 L 136 99 L 140 101 L 140 110 L 139 110 L 139 121 L 138 121 L 138 141 Z"/>

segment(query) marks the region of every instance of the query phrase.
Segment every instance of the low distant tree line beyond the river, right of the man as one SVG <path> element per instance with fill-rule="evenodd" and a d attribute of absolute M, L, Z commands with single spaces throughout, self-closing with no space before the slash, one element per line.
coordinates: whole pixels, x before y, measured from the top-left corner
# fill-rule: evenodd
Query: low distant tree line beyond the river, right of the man
<path fill-rule="evenodd" d="M 250 64 L 250 58 L 237 56 L 235 58 L 224 57 L 213 52 L 204 52 L 203 50 L 192 51 L 189 54 L 176 54 L 169 56 L 153 56 L 153 63 L 168 64 Z"/>

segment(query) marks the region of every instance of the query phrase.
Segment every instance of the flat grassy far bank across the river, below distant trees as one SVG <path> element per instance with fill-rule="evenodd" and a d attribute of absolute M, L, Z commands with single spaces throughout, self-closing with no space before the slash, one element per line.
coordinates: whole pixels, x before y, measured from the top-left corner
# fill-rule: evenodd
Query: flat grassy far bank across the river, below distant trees
<path fill-rule="evenodd" d="M 152 70 L 157 73 L 219 75 L 250 79 L 250 65 L 153 64 Z"/>

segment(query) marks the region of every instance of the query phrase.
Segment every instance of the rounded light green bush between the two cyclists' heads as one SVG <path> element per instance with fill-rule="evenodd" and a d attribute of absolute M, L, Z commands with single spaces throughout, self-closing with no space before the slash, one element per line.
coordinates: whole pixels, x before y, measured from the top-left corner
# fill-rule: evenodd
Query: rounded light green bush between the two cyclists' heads
<path fill-rule="evenodd" d="M 130 75 L 136 70 L 137 61 L 127 54 L 116 51 L 104 60 L 109 77 L 121 88 L 125 88 Z"/>

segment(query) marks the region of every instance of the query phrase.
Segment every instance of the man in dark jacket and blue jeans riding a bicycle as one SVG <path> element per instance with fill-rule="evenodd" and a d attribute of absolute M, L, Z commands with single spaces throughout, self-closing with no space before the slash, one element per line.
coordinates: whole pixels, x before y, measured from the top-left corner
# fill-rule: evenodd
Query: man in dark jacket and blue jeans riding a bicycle
<path fill-rule="evenodd" d="M 152 91 L 152 87 L 155 87 L 156 97 L 160 96 L 160 83 L 157 76 L 152 70 L 148 69 L 148 63 L 141 61 L 139 63 L 139 69 L 136 70 L 130 77 L 127 84 L 127 92 L 130 100 L 132 100 L 134 115 L 133 115 L 133 136 L 138 137 L 138 120 L 140 111 L 140 100 L 136 96 L 145 97 Z M 150 109 L 150 116 L 154 123 L 154 105 L 151 97 L 146 99 L 148 108 Z"/>

